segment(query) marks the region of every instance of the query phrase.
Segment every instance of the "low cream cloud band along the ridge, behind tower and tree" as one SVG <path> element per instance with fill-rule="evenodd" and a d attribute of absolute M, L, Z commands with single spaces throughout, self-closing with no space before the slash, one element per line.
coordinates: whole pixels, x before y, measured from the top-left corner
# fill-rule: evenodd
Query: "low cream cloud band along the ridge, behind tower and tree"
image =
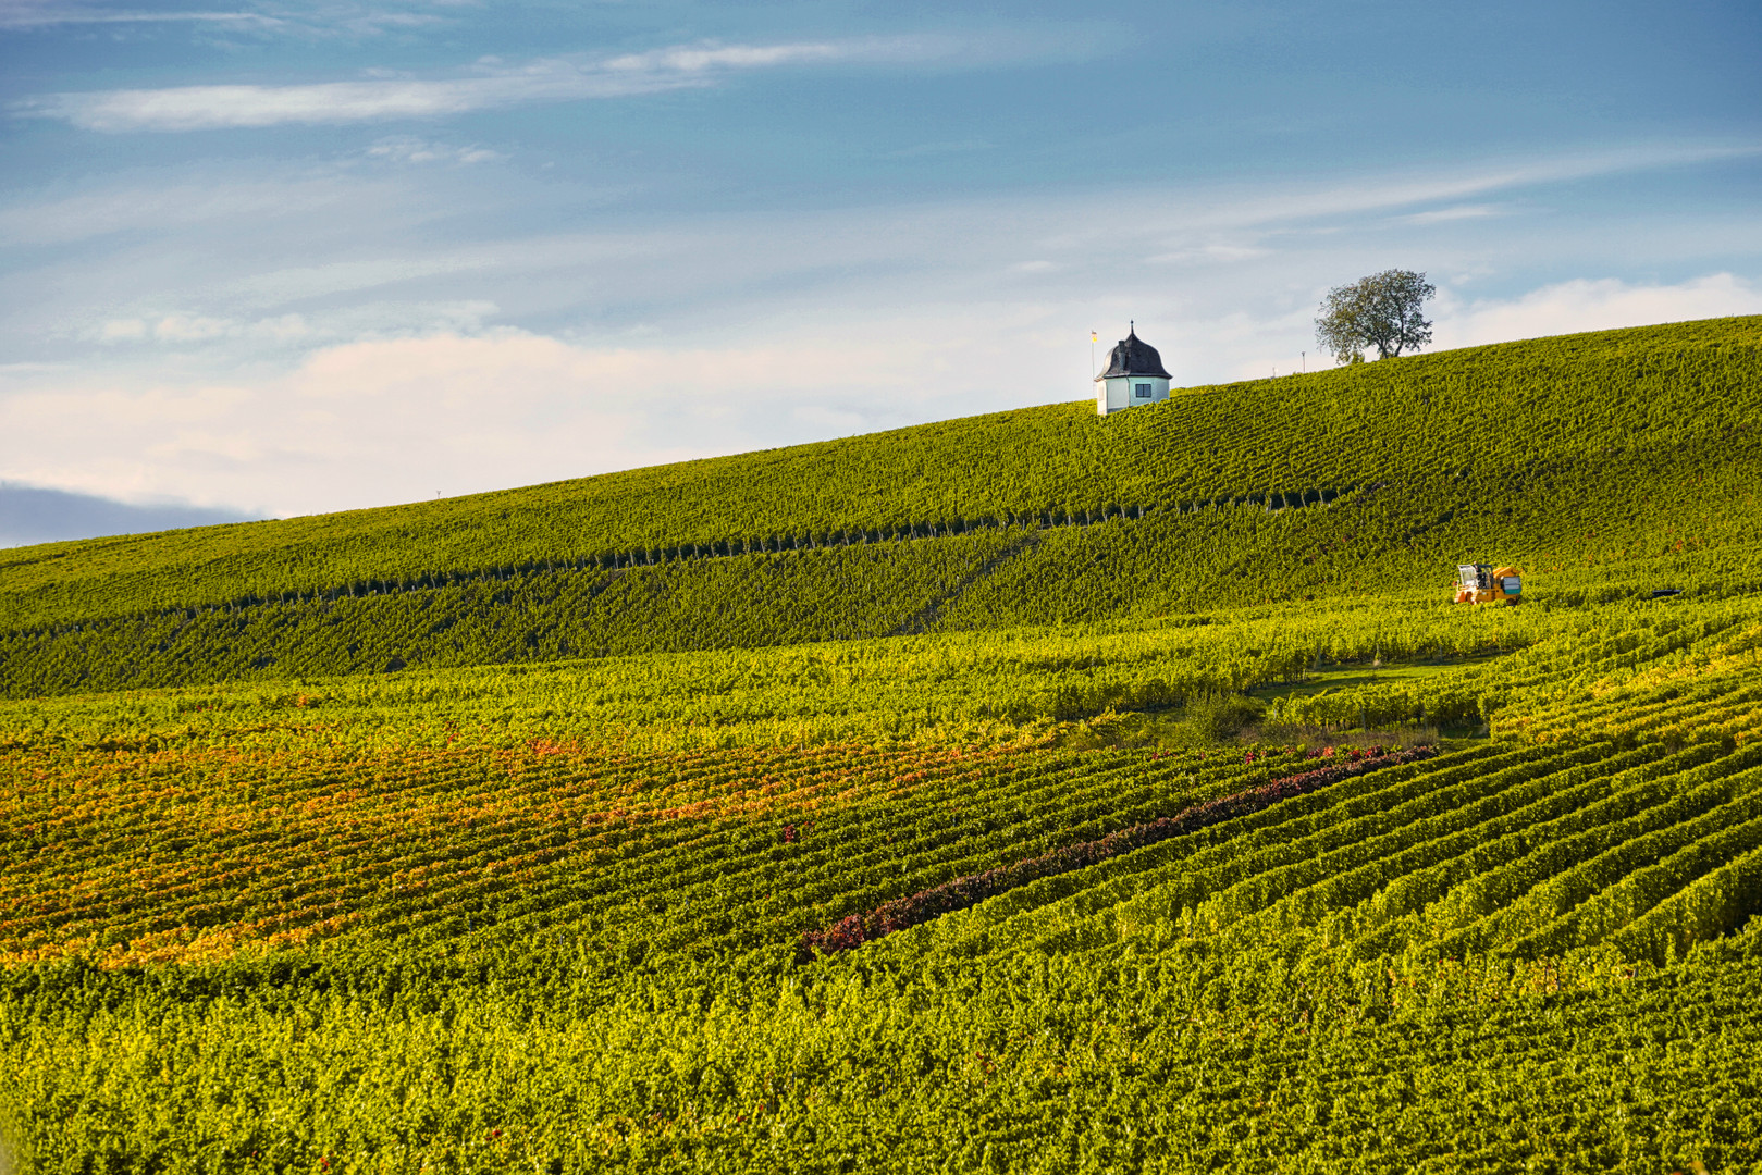
<path fill-rule="evenodd" d="M 840 308 L 721 345 L 641 331 L 622 344 L 444 331 L 326 345 L 270 375 L 5 368 L 0 469 L 125 500 L 351 509 L 1078 400 L 1087 328 L 1108 340 L 1115 314 L 1119 333 L 1138 317 L 1179 382 L 1290 373 L 1299 356 L 1283 356 L 1281 340 L 1304 338 L 1311 317 L 1306 305 L 1184 319 L 1144 298 L 1085 305 L 1092 321 L 1071 301 Z M 1565 282 L 1507 301 L 1445 292 L 1433 349 L 1755 312 L 1762 289 L 1729 273 Z M 181 319 L 176 329 L 211 328 Z"/>

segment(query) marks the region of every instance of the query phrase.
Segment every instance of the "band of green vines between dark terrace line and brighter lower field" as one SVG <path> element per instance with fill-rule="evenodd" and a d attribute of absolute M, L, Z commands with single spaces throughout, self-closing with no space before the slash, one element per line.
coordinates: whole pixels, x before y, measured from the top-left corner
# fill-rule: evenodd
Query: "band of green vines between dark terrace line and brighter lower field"
<path fill-rule="evenodd" d="M 1762 469 L 1725 469 L 1730 497 L 1748 493 L 1739 483 L 1751 476 Z M 1700 488 L 1709 486 L 1727 491 L 1713 477 Z M 1575 486 L 1573 495 L 1582 500 L 1593 488 Z M 1653 483 L 1635 490 L 1653 491 Z M 1600 541 L 1623 551 L 1614 562 L 1579 555 L 1581 527 L 1593 523 L 1558 497 L 1501 500 L 1496 513 L 1464 509 L 1440 521 L 1410 495 L 1381 493 L 1327 507 L 1207 507 L 1085 527 L 95 617 L 0 634 L 0 696 L 1131 624 L 1306 597 L 1394 594 L 1436 604 L 1448 599 L 1450 569 L 1489 544 L 1492 525 L 1501 528 L 1498 550 L 1526 565 L 1528 594 L 1540 606 L 1633 597 L 1660 583 L 1686 592 L 1762 587 L 1762 544 L 1746 511 L 1709 513 L 1700 499 L 1670 502 L 1662 493 L 1649 506 L 1635 502 L 1598 523 Z M 1697 546 L 1670 539 L 1674 532 L 1693 532 Z M 1388 638 L 1401 643 L 1394 624 Z"/>

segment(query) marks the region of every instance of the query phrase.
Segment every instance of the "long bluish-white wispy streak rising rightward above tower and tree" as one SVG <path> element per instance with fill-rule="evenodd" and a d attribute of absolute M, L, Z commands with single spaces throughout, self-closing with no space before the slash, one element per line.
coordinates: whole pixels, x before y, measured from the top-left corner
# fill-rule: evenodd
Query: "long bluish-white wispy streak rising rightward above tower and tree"
<path fill-rule="evenodd" d="M 511 236 L 485 243 L 382 252 L 377 241 L 347 259 L 259 271 L 206 291 L 271 307 L 305 298 L 407 284 L 449 280 L 460 294 L 478 291 L 497 301 L 534 305 L 557 298 L 571 315 L 599 321 L 603 308 L 691 303 L 738 305 L 742 319 L 805 298 L 816 307 L 830 280 L 862 275 L 865 285 L 886 280 L 881 296 L 892 305 L 909 298 L 992 298 L 999 275 L 1057 273 L 1057 296 L 1084 301 L 1096 291 L 1168 291 L 1207 270 L 1207 287 L 1195 305 L 1210 314 L 1228 282 L 1239 303 L 1269 291 L 1297 291 L 1313 307 L 1311 287 L 1350 277 L 1336 270 L 1359 264 L 1355 254 L 1390 248 L 1388 236 L 1406 233 L 1403 254 L 1431 252 L 1401 222 L 1367 220 L 1399 201 L 1424 203 L 1438 192 L 1496 190 L 1501 183 L 1540 183 L 1538 176 L 1582 176 L 1598 167 L 1632 171 L 1720 157 L 1729 148 L 1658 148 L 1591 157 L 1540 160 L 1521 167 L 1452 169 L 1436 176 L 1351 183 L 1267 185 L 1232 188 L 1136 188 L 1082 196 L 1008 196 L 881 208 L 795 210 L 788 215 L 700 215 L 664 229 L 610 227 L 594 233 Z M 1515 178 L 1514 178 L 1515 176 Z M 499 178 L 500 183 L 500 178 Z M 402 210 L 400 210 L 402 211 Z M 1357 224 L 1355 224 L 1357 222 Z M 1091 227 L 1096 225 L 1096 227 Z M 1351 227 L 1357 236 L 1330 238 Z M 1364 233 L 1378 238 L 1366 243 Z M 1528 248 L 1528 247 L 1524 247 Z M 363 255 L 365 254 L 365 255 Z M 1438 264 L 1466 271 L 1485 250 Z M 1422 254 L 1424 257 L 1424 254 Z M 1397 257 L 1399 259 L 1399 257 Z M 1411 262 L 1410 262 L 1411 264 Z M 1431 268 L 1433 262 L 1422 259 Z M 1325 268 L 1323 268 L 1325 266 Z M 1364 270 L 1359 270 L 1360 273 Z M 518 287 L 518 289 L 515 289 Z M 502 292 L 506 291 L 506 292 Z M 553 292 L 555 291 L 555 292 Z M 959 294 L 955 294 L 959 291 Z M 849 294 L 860 298 L 862 291 Z M 192 305 L 192 303 L 185 303 Z M 199 305 L 199 303 L 197 303 Z M 1140 303 L 1142 305 L 1142 303 Z M 1089 319 L 1089 314 L 1078 315 Z M 1304 331 L 1307 335 L 1307 331 Z"/>

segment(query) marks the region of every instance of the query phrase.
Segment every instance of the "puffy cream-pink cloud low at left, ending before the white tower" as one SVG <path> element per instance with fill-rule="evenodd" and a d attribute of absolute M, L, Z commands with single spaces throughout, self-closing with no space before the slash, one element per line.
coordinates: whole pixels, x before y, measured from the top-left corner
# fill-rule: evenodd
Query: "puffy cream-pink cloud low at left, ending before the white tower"
<path fill-rule="evenodd" d="M 347 509 L 737 451 L 765 428 L 855 432 L 920 365 L 874 344 L 596 349 L 497 331 L 328 347 L 261 382 L 51 372 L 0 395 L 0 467 L 123 500 L 174 486 L 197 504 Z"/>

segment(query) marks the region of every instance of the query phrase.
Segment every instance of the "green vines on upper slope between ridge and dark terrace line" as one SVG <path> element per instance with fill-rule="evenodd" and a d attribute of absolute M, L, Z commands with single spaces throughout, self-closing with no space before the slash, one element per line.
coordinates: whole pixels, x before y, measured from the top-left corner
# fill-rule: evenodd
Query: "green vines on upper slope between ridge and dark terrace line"
<path fill-rule="evenodd" d="M 1087 403 L 1024 409 L 444 502 L 21 548 L 0 562 L 0 627 L 1369 486 L 1406 499 L 1410 527 L 1475 511 L 1462 557 L 1505 539 L 1507 509 L 1570 523 L 1547 536 L 1551 558 L 1582 565 L 1630 541 L 1653 555 L 1707 544 L 1702 525 L 1753 506 L 1758 342 L 1755 317 L 1570 335 L 1200 388 L 1105 419 Z M 1632 539 L 1607 539 L 1630 513 Z M 1351 546 L 1350 532 L 1320 537 Z"/>

